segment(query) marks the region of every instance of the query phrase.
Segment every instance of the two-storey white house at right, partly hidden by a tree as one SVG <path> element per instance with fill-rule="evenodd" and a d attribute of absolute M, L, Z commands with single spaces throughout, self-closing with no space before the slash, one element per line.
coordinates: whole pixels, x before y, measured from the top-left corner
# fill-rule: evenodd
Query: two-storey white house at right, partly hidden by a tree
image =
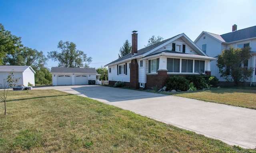
<path fill-rule="evenodd" d="M 232 26 L 232 32 L 227 34 L 212 34 L 210 32 L 202 32 L 198 38 L 194 41 L 204 53 L 210 57 L 217 57 L 218 54 L 221 54 L 221 51 L 224 49 L 229 49 L 230 45 L 234 48 L 243 48 L 250 46 L 251 58 L 246 64 L 243 64 L 245 67 L 256 68 L 256 26 L 245 28 L 242 30 L 237 30 L 236 24 Z M 226 81 L 223 77 L 220 77 L 219 68 L 216 66 L 216 61 L 211 62 L 212 76 L 217 76 L 220 81 Z M 254 70 L 252 78 L 246 80 L 247 84 L 256 85 L 256 72 Z"/>

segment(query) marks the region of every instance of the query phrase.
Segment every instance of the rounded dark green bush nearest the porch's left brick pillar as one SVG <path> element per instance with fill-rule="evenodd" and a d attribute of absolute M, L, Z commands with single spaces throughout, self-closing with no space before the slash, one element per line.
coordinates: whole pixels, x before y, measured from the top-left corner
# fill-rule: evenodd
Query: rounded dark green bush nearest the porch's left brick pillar
<path fill-rule="evenodd" d="M 182 76 L 171 76 L 166 80 L 166 88 L 167 90 L 180 89 L 181 91 L 187 91 L 189 82 L 185 77 Z"/>

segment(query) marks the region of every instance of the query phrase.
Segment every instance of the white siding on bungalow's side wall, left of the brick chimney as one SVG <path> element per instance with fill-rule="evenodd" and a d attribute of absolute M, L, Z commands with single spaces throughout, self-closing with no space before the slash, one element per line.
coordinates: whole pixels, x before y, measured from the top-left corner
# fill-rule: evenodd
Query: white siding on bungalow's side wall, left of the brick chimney
<path fill-rule="evenodd" d="M 123 82 L 130 82 L 130 68 L 129 68 L 129 63 L 127 62 L 127 75 L 126 74 L 118 74 L 117 75 L 117 65 L 114 66 L 108 66 L 108 69 L 111 68 L 111 73 L 108 71 L 108 80 L 109 81 L 123 81 Z M 125 65 L 125 63 L 118 64 L 120 65 Z M 119 68 L 118 68 L 119 69 Z"/>

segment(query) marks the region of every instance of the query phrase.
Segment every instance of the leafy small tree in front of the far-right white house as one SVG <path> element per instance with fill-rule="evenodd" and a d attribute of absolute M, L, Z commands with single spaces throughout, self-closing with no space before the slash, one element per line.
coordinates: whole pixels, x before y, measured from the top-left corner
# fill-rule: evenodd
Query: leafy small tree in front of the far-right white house
<path fill-rule="evenodd" d="M 254 68 L 248 67 L 250 50 L 250 47 L 240 49 L 233 46 L 230 46 L 229 50 L 223 50 L 217 60 L 220 77 L 224 77 L 227 81 L 233 81 L 235 86 L 248 77 L 252 77 Z"/>

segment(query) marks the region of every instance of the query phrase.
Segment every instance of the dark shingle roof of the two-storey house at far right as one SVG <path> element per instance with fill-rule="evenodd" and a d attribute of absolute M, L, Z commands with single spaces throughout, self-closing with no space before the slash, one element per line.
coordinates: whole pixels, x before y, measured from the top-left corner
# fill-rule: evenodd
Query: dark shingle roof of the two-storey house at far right
<path fill-rule="evenodd" d="M 255 38 L 256 37 L 256 26 L 237 30 L 235 32 L 230 32 L 227 34 L 222 34 L 220 36 L 225 40 L 225 42 L 235 42 L 238 40 Z"/>

